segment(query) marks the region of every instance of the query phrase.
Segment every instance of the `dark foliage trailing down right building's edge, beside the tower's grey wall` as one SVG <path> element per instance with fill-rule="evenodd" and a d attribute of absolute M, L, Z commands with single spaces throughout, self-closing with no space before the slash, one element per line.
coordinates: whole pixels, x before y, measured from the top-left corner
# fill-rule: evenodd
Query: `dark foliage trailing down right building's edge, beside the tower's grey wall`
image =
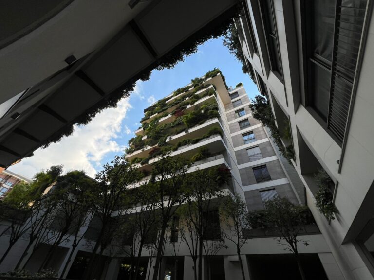
<path fill-rule="evenodd" d="M 277 145 L 279 152 L 283 157 L 287 158 L 287 160 L 291 162 L 291 158 L 294 158 L 292 144 L 287 147 L 283 146 L 281 136 L 278 127 L 275 125 L 275 118 L 273 112 L 271 111 L 271 106 L 268 100 L 261 95 L 256 95 L 255 99 L 252 99 L 252 103 L 249 105 L 249 108 L 252 111 L 253 117 L 270 129 L 271 137 L 273 138 L 274 143 Z M 289 125 L 286 126 L 289 127 Z M 286 132 L 286 134 L 290 137 L 291 131 Z"/>

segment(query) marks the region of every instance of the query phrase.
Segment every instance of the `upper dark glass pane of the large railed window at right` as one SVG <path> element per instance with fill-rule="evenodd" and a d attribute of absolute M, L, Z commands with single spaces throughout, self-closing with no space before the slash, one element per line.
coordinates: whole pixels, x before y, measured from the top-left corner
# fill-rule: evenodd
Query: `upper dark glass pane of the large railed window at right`
<path fill-rule="evenodd" d="M 313 52 L 331 62 L 333 53 L 335 0 L 313 0 Z"/>

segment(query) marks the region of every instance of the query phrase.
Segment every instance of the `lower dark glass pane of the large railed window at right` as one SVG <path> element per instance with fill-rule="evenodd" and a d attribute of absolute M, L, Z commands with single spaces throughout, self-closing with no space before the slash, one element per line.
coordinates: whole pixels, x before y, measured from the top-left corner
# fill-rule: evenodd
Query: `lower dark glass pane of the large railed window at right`
<path fill-rule="evenodd" d="M 317 63 L 310 62 L 311 68 L 311 106 L 317 111 L 321 118 L 327 121 L 329 109 L 330 71 Z"/>

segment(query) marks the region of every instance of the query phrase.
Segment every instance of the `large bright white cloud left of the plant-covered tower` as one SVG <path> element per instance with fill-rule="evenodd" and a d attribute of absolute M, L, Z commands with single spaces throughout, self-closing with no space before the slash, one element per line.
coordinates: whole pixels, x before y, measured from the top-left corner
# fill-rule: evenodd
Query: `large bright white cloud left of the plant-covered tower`
<path fill-rule="evenodd" d="M 140 89 L 137 90 L 139 92 Z M 120 100 L 116 108 L 102 111 L 91 123 L 75 127 L 71 136 L 51 144 L 46 149 L 38 149 L 34 156 L 24 158 L 9 170 L 32 177 L 42 169 L 62 164 L 64 171 L 84 170 L 87 175 L 93 176 L 99 170 L 100 161 L 106 154 L 123 150 L 115 139 L 120 136 L 121 131 L 131 133 L 127 126 L 121 127 L 130 108 L 128 99 Z"/>

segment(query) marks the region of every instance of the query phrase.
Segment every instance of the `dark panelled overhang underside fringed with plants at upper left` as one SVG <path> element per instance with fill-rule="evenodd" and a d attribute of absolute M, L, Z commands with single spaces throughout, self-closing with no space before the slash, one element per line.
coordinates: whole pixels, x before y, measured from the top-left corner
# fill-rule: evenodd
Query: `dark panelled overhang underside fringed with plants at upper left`
<path fill-rule="evenodd" d="M 1 49 L 0 104 L 29 90 L 27 100 L 0 119 L 0 166 L 69 134 L 73 124 L 85 123 L 103 104 L 110 105 L 108 100 L 117 100 L 188 38 L 233 15 L 236 4 L 160 0 L 131 9 L 119 0 L 110 5 L 72 1 L 30 31 L 27 40 L 21 36 Z M 72 55 L 76 61 L 67 60 Z"/>

